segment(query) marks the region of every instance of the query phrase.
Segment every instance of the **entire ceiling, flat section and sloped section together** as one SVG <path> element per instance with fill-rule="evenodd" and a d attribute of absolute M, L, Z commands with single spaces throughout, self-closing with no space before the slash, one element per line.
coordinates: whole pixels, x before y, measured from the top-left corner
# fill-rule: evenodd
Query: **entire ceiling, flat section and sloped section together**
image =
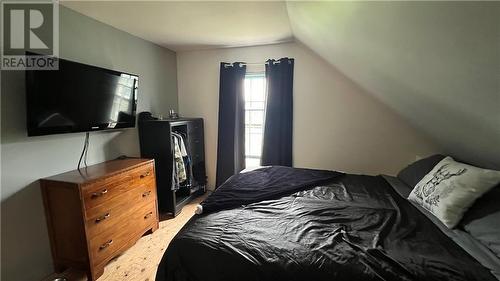
<path fill-rule="evenodd" d="M 176 51 L 295 39 L 445 153 L 500 169 L 500 2 L 62 3 Z"/>

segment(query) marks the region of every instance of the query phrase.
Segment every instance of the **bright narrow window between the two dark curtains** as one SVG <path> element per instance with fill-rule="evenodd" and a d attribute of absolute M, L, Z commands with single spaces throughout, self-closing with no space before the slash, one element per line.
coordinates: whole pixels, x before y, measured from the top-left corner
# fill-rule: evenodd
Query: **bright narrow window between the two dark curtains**
<path fill-rule="evenodd" d="M 247 168 L 260 165 L 265 103 L 265 74 L 248 73 L 245 76 L 245 164 Z"/>

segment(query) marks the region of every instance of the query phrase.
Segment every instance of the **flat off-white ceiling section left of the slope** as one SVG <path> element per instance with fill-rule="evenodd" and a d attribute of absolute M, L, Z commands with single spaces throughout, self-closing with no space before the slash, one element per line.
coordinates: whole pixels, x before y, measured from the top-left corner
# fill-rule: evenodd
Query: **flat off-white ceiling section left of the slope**
<path fill-rule="evenodd" d="M 64 1 L 61 4 L 174 51 L 293 40 L 285 2 Z"/>

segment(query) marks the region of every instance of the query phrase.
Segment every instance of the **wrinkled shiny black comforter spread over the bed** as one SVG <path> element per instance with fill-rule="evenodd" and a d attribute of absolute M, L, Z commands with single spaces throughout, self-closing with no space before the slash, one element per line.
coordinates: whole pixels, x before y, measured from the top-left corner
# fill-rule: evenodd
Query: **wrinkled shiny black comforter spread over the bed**
<path fill-rule="evenodd" d="M 496 280 L 381 177 L 302 189 L 194 216 L 156 280 Z"/>

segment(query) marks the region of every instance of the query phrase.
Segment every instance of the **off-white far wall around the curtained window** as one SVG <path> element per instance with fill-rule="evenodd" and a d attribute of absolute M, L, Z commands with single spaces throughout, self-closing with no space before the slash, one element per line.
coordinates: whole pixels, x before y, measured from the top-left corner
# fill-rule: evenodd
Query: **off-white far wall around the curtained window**
<path fill-rule="evenodd" d="M 294 165 L 363 174 L 395 174 L 417 156 L 439 151 L 426 136 L 303 45 L 177 53 L 179 110 L 205 119 L 209 186 L 214 186 L 220 62 L 295 58 Z"/>

